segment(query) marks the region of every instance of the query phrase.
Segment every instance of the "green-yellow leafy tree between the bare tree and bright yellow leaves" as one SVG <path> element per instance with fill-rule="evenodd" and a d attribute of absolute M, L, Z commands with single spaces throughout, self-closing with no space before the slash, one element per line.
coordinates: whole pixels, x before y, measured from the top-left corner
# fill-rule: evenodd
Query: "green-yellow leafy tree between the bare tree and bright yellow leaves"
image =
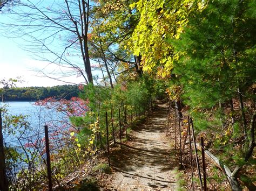
<path fill-rule="evenodd" d="M 129 70 L 135 68 L 139 77 L 142 77 L 141 56 L 134 56 L 127 47 L 128 41 L 138 24 L 139 12 L 130 9 L 134 1 L 113 0 L 100 1 L 93 11 L 93 16 L 99 22 L 100 33 L 105 45 L 104 52 L 109 62 L 124 62 Z M 96 31 L 94 31 L 96 32 Z"/>

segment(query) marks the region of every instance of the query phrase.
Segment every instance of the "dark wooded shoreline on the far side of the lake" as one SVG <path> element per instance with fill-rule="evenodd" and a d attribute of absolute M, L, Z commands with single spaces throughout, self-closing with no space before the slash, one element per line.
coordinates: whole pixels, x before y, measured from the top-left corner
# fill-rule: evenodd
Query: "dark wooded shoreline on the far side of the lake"
<path fill-rule="evenodd" d="M 53 87 L 25 87 L 25 88 L 0 88 L 0 101 L 2 96 L 4 101 L 37 101 L 46 97 L 65 98 L 70 100 L 71 97 L 78 96 L 78 86 L 63 85 Z"/>

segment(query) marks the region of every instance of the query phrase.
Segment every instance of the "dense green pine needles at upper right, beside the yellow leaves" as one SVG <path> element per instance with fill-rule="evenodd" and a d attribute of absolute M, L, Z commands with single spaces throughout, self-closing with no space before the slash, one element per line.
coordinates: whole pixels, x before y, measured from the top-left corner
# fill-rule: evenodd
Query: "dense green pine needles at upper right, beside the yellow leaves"
<path fill-rule="evenodd" d="M 246 91 L 255 82 L 251 60 L 255 58 L 251 55 L 255 26 L 251 25 L 254 18 L 247 16 L 251 3 L 211 2 L 190 17 L 180 40 L 170 41 L 176 51 L 185 52 L 174 63 L 173 72 L 179 76 L 183 98 L 192 108 L 211 108 L 228 101 L 238 87 Z"/>

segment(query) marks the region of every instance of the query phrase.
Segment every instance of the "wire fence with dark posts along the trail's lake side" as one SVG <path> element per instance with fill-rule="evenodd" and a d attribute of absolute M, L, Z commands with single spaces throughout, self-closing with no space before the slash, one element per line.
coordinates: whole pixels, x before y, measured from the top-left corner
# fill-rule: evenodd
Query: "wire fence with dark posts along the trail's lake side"
<path fill-rule="evenodd" d="M 2 139 L 3 145 L 0 145 L 0 149 L 3 148 L 5 153 L 4 158 L 1 158 L 0 154 L 0 162 L 5 161 L 5 167 L 0 164 L 0 169 L 1 172 L 5 169 L 5 174 L 0 174 L 0 179 L 6 179 L 6 188 L 11 190 L 63 188 L 63 185 L 79 177 L 78 175 L 75 175 L 75 178 L 69 176 L 79 171 L 82 165 L 89 164 L 90 169 L 86 171 L 90 171 L 96 164 L 97 146 L 102 144 L 103 136 L 107 138 L 107 142 L 104 142 L 101 149 L 109 148 L 110 142 L 119 143 L 122 147 L 124 135 L 127 138 L 127 128 L 152 109 L 152 103 L 148 106 L 134 111 L 132 107 L 128 110 L 125 105 L 122 105 L 116 108 L 118 112 L 116 110 L 112 112 L 112 109 L 109 114 L 106 112 L 106 118 L 101 119 L 100 123 L 104 121 L 107 125 L 95 133 L 96 139 L 91 145 L 91 150 L 95 151 L 93 155 L 87 153 L 86 148 L 78 144 L 76 135 L 82 128 L 73 126 L 69 116 L 56 118 L 48 114 L 47 122 L 42 120 L 39 125 L 28 126 L 16 134 L 12 133 L 12 136 L 5 133 Z M 0 135 L 3 135 L 3 129 L 5 128 L 1 121 Z M 102 130 L 106 131 L 106 135 L 101 134 Z M 72 136 L 73 134 L 75 136 Z M 79 140 L 87 140 L 90 136 L 85 133 L 79 136 Z M 109 157 L 109 149 L 107 151 Z M 109 165 L 111 165 L 110 160 Z M 63 182 L 64 179 L 67 181 Z M 2 185 L 0 186 L 2 188 Z"/>

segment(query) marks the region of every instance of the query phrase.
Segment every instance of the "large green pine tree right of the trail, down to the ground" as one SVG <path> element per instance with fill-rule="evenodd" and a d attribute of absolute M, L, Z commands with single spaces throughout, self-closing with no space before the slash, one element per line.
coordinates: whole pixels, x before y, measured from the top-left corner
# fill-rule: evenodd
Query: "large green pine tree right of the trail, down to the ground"
<path fill-rule="evenodd" d="M 251 101 L 255 96 L 252 92 L 256 80 L 254 8 L 253 1 L 211 2 L 188 18 L 180 40 L 169 39 L 174 51 L 183 53 L 173 65 L 177 84 L 183 87 L 181 96 L 198 121 L 197 128 L 207 129 L 209 136 L 216 137 L 214 149 L 220 153 L 220 161 L 228 160 L 222 169 L 233 190 L 241 190 L 239 172 L 246 164 L 250 165 L 255 146 L 255 111 L 248 107 L 246 114 L 244 108 L 244 100 Z M 233 98 L 240 102 L 240 114 L 232 111 Z M 225 114 L 222 105 L 230 101 L 232 112 Z M 230 116 L 236 121 L 228 120 Z M 251 118 L 250 125 L 246 118 Z M 229 130 L 231 126 L 233 130 Z M 239 147 L 234 153 L 235 144 Z"/>

